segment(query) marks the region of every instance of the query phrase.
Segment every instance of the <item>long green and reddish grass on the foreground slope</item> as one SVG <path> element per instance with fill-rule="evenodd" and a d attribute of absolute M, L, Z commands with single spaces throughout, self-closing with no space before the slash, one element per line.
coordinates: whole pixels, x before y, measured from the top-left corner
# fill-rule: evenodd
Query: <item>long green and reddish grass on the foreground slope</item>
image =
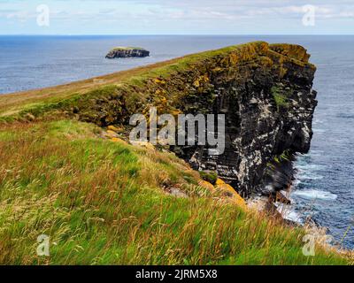
<path fill-rule="evenodd" d="M 0 130 L 0 264 L 348 264 L 303 256 L 302 229 L 218 200 L 172 154 L 70 120 Z"/>

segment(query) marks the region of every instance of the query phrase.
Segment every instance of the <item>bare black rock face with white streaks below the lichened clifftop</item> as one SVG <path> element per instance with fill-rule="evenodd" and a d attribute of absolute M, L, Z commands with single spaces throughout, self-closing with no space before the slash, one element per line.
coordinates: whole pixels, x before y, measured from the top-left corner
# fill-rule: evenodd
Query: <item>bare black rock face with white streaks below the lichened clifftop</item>
<path fill-rule="evenodd" d="M 275 47 L 281 51 L 279 46 L 274 46 L 274 50 Z M 266 167 L 273 157 L 285 150 L 294 154 L 307 153 L 310 149 L 312 117 L 317 105 L 317 93 L 312 90 L 316 69 L 307 64 L 310 56 L 302 47 L 289 48 L 300 53 L 303 61 L 282 57 L 271 46 L 267 55 L 273 63 L 268 68 L 244 65 L 238 68 L 233 80 L 230 73 L 211 76 L 216 99 L 209 109 L 216 114 L 225 113 L 227 120 L 223 155 L 210 156 L 207 146 L 178 151 L 194 169 L 217 171 L 221 179 L 243 195 L 264 191 Z M 285 165 L 273 173 L 275 190 L 291 182 L 292 166 Z"/>

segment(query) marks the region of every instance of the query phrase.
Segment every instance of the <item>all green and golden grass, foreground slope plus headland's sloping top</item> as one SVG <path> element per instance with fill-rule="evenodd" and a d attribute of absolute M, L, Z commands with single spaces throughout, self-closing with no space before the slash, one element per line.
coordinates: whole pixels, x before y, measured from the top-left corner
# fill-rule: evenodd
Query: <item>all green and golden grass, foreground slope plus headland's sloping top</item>
<path fill-rule="evenodd" d="M 123 101 L 112 107 L 122 116 L 142 102 L 173 111 L 179 97 L 160 86 L 191 72 L 190 85 L 203 90 L 200 74 L 215 62 L 212 72 L 255 60 L 270 70 L 279 60 L 313 67 L 279 52 L 254 42 L 0 96 L 0 264 L 349 264 L 320 245 L 304 256 L 302 228 L 245 208 L 173 154 L 103 138 L 101 127 L 76 120 L 102 121 L 97 102 Z M 48 257 L 36 254 L 41 234 L 50 236 Z"/>

